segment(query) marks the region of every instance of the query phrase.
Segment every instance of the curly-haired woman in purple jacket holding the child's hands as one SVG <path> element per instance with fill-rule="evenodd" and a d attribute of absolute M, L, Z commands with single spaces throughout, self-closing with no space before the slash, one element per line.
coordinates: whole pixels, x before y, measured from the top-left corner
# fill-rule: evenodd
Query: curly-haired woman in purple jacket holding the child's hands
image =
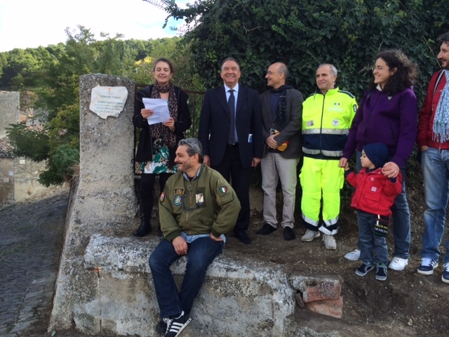
<path fill-rule="evenodd" d="M 389 161 L 382 172 L 387 178 L 402 172 L 402 192 L 396 197 L 393 212 L 394 258 L 389 263 L 392 270 L 403 270 L 408 265 L 410 249 L 410 211 L 406 198 L 406 162 L 413 150 L 417 133 L 417 100 L 413 93 L 413 81 L 417 77 L 417 65 L 398 50 L 377 54 L 373 70 L 374 81 L 361 99 L 352 121 L 347 143 L 340 159 L 344 167 L 356 151 L 361 157 L 364 145 L 385 143 Z M 361 169 L 357 159 L 357 169 Z M 360 251 L 347 253 L 348 260 L 358 260 Z"/>

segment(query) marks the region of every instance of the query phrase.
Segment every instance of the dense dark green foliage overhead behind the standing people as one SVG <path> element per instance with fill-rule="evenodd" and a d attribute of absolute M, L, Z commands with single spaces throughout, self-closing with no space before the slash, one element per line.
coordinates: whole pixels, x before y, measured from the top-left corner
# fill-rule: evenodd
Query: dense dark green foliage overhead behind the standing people
<path fill-rule="evenodd" d="M 208 87 L 220 84 L 220 62 L 232 56 L 241 62 L 241 81 L 260 91 L 267 67 L 286 62 L 290 84 L 307 95 L 316 67 L 330 62 L 340 70 L 340 87 L 361 98 L 377 51 L 400 48 L 420 66 L 422 100 L 438 66 L 433 39 L 449 30 L 442 0 L 199 0 L 187 8 L 146 1 L 189 25 L 185 42 Z"/>

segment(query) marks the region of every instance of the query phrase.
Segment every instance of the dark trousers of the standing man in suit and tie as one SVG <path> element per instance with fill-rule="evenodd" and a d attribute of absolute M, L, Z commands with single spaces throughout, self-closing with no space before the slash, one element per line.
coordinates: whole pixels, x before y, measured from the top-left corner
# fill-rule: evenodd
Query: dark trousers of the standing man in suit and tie
<path fill-rule="evenodd" d="M 234 232 L 248 230 L 250 223 L 250 173 L 251 168 L 241 165 L 239 145 L 227 145 L 225 156 L 220 164 L 211 165 L 212 169 L 218 171 L 223 178 L 231 184 L 241 204 L 239 218 L 237 218 Z"/>

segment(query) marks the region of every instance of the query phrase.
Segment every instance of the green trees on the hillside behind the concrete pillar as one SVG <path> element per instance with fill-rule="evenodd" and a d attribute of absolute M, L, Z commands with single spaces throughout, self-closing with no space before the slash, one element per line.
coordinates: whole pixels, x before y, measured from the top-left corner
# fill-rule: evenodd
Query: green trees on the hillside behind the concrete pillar
<path fill-rule="evenodd" d="M 13 154 L 33 161 L 46 160 L 39 176 L 43 185 L 58 185 L 72 176 L 79 163 L 79 78 L 101 72 L 128 77 L 141 84 L 152 83 L 152 61 L 161 56 L 173 60 L 182 71 L 175 80 L 189 86 L 194 75 L 189 70 L 189 50 L 178 46 L 180 38 L 122 41 L 121 34 L 95 39 L 91 30 L 78 26 L 66 29 L 65 44 L 0 53 L 1 83 L 6 88 L 32 89 L 37 93 L 35 108 L 48 112 L 41 131 L 11 124 L 8 136 Z M 147 61 L 141 61 L 149 55 Z M 192 76 L 189 76 L 192 75 Z M 30 88 L 31 87 L 31 88 Z"/>

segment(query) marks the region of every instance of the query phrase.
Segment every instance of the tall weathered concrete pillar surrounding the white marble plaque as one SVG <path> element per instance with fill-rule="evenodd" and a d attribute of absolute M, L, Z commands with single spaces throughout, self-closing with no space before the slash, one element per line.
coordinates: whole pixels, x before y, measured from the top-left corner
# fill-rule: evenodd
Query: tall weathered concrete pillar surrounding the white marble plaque
<path fill-rule="evenodd" d="M 89 110 L 95 86 L 125 86 L 128 99 L 119 117 L 101 119 Z M 69 327 L 81 303 L 96 298 L 98 277 L 85 269 L 83 255 L 93 234 L 116 235 L 132 230 L 136 212 L 133 188 L 133 124 L 135 88 L 132 81 L 102 74 L 80 80 L 80 176 L 67 214 L 51 326 Z"/>

